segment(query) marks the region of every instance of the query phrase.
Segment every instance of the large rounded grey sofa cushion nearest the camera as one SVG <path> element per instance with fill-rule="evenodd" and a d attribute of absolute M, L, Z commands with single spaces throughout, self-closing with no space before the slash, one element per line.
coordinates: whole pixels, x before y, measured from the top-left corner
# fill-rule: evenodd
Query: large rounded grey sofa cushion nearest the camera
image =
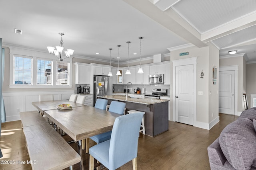
<path fill-rule="evenodd" d="M 240 118 L 227 125 L 220 133 L 219 143 L 235 169 L 256 167 L 256 133 L 252 120 Z"/>

